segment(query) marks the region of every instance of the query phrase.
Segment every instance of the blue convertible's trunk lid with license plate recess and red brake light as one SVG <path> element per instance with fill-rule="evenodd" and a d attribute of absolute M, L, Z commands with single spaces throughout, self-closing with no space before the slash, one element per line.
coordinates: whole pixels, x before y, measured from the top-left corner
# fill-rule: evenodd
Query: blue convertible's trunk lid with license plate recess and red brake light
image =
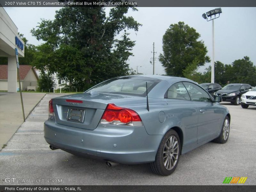
<path fill-rule="evenodd" d="M 118 94 L 82 93 L 54 98 L 52 104 L 56 123 L 94 130 L 98 126 L 108 103 L 118 105 L 118 103 L 130 102 L 132 104 L 143 99 L 145 100 L 144 97 Z"/>

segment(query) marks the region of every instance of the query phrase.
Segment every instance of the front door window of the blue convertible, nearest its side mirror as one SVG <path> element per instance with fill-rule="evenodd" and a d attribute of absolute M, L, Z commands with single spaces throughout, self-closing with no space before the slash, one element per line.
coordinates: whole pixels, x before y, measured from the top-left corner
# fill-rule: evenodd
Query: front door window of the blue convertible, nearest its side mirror
<path fill-rule="evenodd" d="M 202 101 L 202 102 L 212 102 L 209 94 L 204 91 L 201 87 L 197 86 L 196 84 L 184 82 L 186 88 L 188 89 L 188 94 L 193 101 Z"/>

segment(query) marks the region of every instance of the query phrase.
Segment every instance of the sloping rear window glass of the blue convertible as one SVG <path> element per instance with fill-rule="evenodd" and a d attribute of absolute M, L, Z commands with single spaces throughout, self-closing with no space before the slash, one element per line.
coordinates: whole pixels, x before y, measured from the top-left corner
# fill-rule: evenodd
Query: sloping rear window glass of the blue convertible
<path fill-rule="evenodd" d="M 146 82 L 148 92 L 161 80 L 148 77 L 118 77 L 95 85 L 86 92 L 115 93 L 134 96 L 146 96 Z"/>

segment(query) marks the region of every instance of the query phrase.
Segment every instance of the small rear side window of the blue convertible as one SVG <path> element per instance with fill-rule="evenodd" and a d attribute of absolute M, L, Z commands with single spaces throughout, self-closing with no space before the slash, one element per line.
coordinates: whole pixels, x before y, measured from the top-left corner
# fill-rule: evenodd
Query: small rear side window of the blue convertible
<path fill-rule="evenodd" d="M 167 98 L 168 99 L 180 99 L 180 100 L 190 100 L 188 95 L 188 91 L 182 82 L 173 84 L 167 90 Z"/>

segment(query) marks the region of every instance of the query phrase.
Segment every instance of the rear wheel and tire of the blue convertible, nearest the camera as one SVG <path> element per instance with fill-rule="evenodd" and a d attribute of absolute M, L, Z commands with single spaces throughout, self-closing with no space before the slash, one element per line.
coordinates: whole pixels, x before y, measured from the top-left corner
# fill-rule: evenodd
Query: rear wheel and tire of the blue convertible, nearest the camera
<path fill-rule="evenodd" d="M 163 176 L 172 174 L 179 163 L 180 150 L 180 137 L 171 129 L 164 135 L 159 145 L 155 162 L 150 163 L 151 170 Z"/>

